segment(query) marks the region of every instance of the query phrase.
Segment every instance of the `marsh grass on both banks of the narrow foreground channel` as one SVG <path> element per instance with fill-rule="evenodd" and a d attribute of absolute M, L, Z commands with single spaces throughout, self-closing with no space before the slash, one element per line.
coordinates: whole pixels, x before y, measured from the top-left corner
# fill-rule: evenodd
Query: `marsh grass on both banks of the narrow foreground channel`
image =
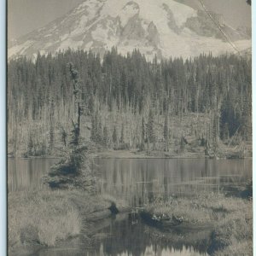
<path fill-rule="evenodd" d="M 35 244 L 52 247 L 68 237 L 90 233 L 86 218 L 93 212 L 109 207 L 116 201 L 109 195 L 86 194 L 79 190 L 15 192 L 9 194 L 9 251 Z M 210 230 L 170 235 L 172 241 L 192 242 L 195 247 L 207 244 L 210 255 L 252 255 L 253 210 L 252 201 L 221 194 L 197 195 L 193 199 L 158 199 L 147 207 L 149 212 L 182 217 L 185 223 Z M 159 230 L 150 236 L 168 239 Z M 86 233 L 87 232 L 87 233 Z M 193 236 L 193 241 L 191 237 Z M 208 238 L 207 238 L 208 237 Z"/>

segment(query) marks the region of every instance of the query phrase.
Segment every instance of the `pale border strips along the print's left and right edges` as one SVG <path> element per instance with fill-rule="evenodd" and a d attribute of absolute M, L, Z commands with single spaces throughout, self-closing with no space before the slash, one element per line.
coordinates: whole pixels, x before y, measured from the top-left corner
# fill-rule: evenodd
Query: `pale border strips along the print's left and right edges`
<path fill-rule="evenodd" d="M 8 0 L 7 0 L 8 1 Z M 255 2 L 254 2 L 255 1 Z M 256 0 L 252 1 L 252 25 L 256 24 Z M 5 1 L 0 1 L 0 255 L 6 255 L 7 253 L 7 219 L 6 219 L 6 14 L 5 14 Z M 253 26 L 253 46 L 256 42 L 255 26 Z M 254 48 L 254 47 L 253 47 Z M 254 67 L 256 54 L 253 50 L 253 84 L 256 79 L 254 73 Z M 252 85 L 253 87 L 253 85 Z M 256 147 L 256 141 L 254 135 L 256 134 L 256 90 L 253 87 L 253 152 Z M 255 182 L 256 174 L 254 172 L 254 154 L 253 154 L 253 183 Z M 253 198 L 255 198 L 256 191 L 253 185 Z M 253 210 L 255 209 L 255 200 L 253 200 Z M 256 223 L 254 221 L 256 217 L 255 211 L 253 211 L 253 254 L 256 255 L 256 236 L 254 231 L 256 230 Z"/>

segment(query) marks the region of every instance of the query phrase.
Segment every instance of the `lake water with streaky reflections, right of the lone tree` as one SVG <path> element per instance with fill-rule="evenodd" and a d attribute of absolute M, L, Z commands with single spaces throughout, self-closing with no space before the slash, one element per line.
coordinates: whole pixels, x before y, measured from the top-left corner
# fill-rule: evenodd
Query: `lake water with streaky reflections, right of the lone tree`
<path fill-rule="evenodd" d="M 251 176 L 241 160 L 96 160 L 102 169 L 99 191 L 142 206 L 157 196 L 230 190 Z M 243 173 L 242 173 L 243 172 Z"/>

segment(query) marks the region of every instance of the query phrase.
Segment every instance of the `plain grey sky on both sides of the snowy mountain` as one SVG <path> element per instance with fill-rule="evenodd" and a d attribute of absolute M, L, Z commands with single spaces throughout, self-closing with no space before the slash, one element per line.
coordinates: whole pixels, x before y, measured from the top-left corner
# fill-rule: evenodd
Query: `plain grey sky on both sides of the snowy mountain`
<path fill-rule="evenodd" d="M 186 1 L 199 3 L 199 0 Z M 207 9 L 224 15 L 224 20 L 230 26 L 235 28 L 237 26 L 251 26 L 251 8 L 247 5 L 246 0 L 203 1 Z M 65 15 L 84 0 L 8 0 L 7 2 L 8 36 L 9 39 L 13 39 L 45 26 L 50 21 Z"/>

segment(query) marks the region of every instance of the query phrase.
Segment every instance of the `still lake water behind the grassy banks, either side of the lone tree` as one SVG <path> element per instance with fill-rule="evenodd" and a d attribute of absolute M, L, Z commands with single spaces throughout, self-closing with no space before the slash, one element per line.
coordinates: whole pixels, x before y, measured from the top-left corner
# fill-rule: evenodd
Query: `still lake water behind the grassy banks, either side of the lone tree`
<path fill-rule="evenodd" d="M 47 189 L 41 177 L 54 159 L 9 159 L 9 191 Z M 156 197 L 236 192 L 252 177 L 252 160 L 96 159 L 99 194 L 142 206 Z"/>

